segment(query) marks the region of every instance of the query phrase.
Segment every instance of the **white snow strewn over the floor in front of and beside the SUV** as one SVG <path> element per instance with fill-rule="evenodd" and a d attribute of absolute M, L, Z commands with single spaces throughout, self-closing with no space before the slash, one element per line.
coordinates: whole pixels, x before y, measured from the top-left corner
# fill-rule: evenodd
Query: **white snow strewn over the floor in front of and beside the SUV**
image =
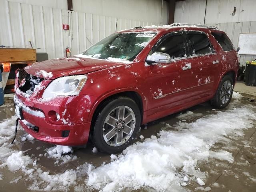
<path fill-rule="evenodd" d="M 112 154 L 110 163 L 103 163 L 99 167 L 85 163 L 76 170 L 63 173 L 43 171 L 37 157 L 13 148 L 15 144 L 22 144 L 22 137 L 17 137 L 14 144 L 10 144 L 16 120 L 16 116 L 12 116 L 0 123 L 0 168 L 21 172 L 22 176 L 17 175 L 13 182 L 29 180 L 32 183 L 28 186 L 29 190 L 66 191 L 70 186 L 76 186 L 78 181 L 84 181 L 84 185 L 76 188 L 92 187 L 103 192 L 121 191 L 124 188 L 187 191 L 184 186 L 197 182 L 198 190 L 208 191 L 208 173 L 200 171 L 198 165 L 214 159 L 232 163 L 234 158 L 230 152 L 214 150 L 212 146 L 216 142 L 228 142 L 226 137 L 242 136 L 244 129 L 252 128 L 256 120 L 254 111 L 255 107 L 247 105 L 216 111 L 190 123 L 166 124 L 157 136 L 139 140 L 118 156 Z M 46 156 L 56 158 L 56 163 L 60 164 L 76 158 L 72 155 L 72 148 L 66 146 L 49 148 Z M 255 180 L 247 172 L 244 175 Z M 4 175 L 0 174 L 0 178 L 4 178 Z"/>

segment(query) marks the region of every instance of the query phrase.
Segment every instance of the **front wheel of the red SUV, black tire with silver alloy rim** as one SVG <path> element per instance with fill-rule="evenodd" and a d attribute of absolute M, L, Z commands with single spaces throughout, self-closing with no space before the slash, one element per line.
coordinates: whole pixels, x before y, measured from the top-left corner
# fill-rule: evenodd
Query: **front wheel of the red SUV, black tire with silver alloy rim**
<path fill-rule="evenodd" d="M 96 117 L 92 140 L 98 150 L 116 154 L 136 138 L 140 128 L 140 110 L 136 102 L 127 97 L 118 97 L 105 104 Z"/>

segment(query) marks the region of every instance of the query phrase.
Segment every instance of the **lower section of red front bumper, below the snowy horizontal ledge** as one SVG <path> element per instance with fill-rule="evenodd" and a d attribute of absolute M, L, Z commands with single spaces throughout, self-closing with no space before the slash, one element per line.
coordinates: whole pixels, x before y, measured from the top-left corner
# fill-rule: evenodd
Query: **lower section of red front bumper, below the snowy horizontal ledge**
<path fill-rule="evenodd" d="M 22 105 L 16 96 L 14 100 L 15 106 Z M 21 113 L 17 114 L 21 116 L 20 125 L 38 140 L 67 146 L 80 146 L 88 142 L 90 122 L 72 125 L 53 124 L 45 116 L 38 115 L 40 113 L 34 108 L 23 104 L 21 109 Z"/>

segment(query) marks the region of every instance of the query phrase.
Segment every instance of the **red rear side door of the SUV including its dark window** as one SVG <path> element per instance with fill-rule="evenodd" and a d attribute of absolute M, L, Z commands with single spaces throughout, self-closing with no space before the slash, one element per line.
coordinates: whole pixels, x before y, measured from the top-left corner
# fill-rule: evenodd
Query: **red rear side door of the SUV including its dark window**
<path fill-rule="evenodd" d="M 185 31 L 191 63 L 190 81 L 195 86 L 189 94 L 193 99 L 212 95 L 220 74 L 221 56 L 216 54 L 208 36 L 201 31 Z M 192 98 L 191 98 L 192 100 Z"/>

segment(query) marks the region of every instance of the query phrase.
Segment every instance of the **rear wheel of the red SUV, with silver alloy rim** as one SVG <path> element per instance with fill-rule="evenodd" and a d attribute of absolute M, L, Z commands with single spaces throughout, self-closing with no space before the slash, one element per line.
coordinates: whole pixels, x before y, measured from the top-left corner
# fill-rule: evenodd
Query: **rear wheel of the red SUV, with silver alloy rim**
<path fill-rule="evenodd" d="M 233 85 L 233 79 L 229 75 L 224 76 L 220 81 L 214 98 L 211 100 L 212 106 L 218 109 L 228 106 L 233 94 Z"/>

